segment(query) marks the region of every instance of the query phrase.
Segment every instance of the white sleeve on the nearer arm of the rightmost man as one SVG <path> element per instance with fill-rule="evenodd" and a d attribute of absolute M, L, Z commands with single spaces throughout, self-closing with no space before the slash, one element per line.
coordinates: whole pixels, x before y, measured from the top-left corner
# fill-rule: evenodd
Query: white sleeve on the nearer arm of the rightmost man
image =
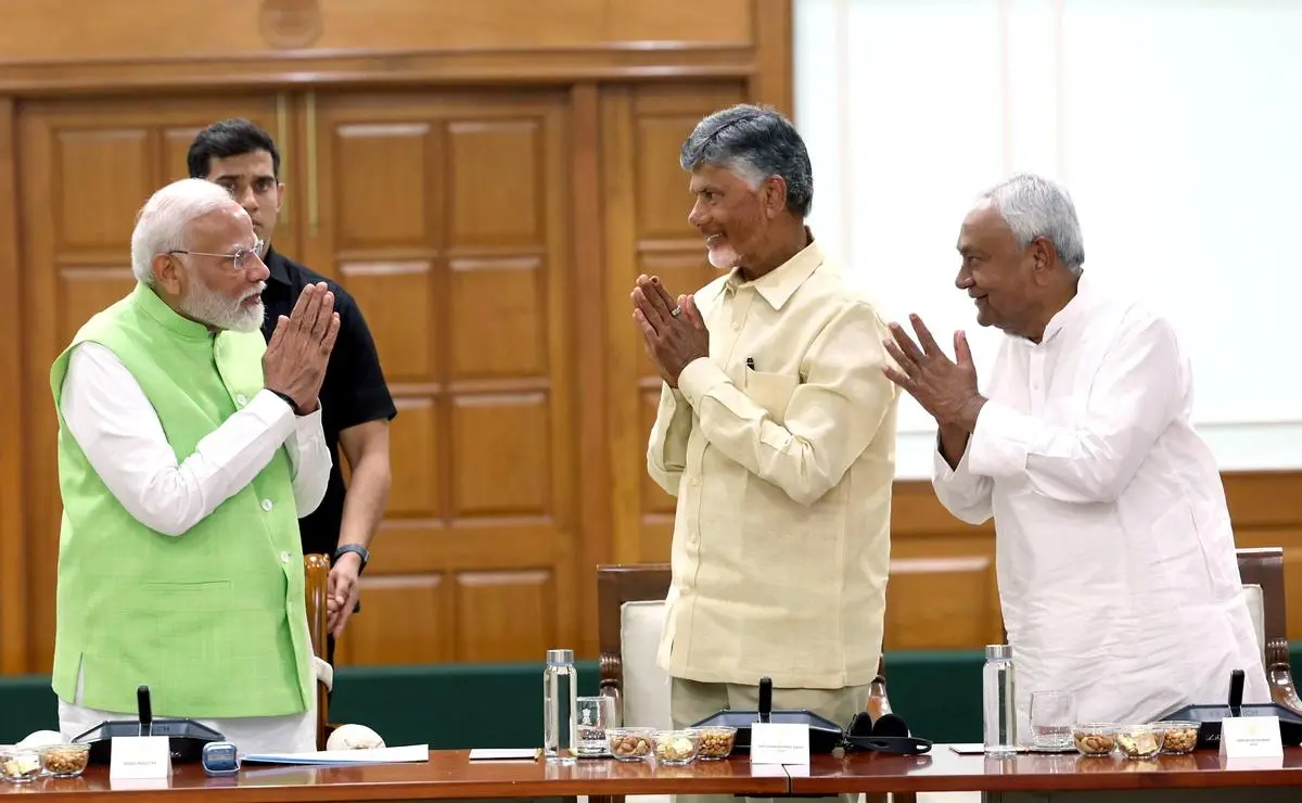
<path fill-rule="evenodd" d="M 1064 502 L 1112 502 L 1182 403 L 1181 354 L 1170 324 L 1133 310 L 1096 372 L 1074 377 L 1087 394 L 1074 426 L 1049 426 L 986 402 L 963 459 L 995 479 L 1025 476 Z"/>

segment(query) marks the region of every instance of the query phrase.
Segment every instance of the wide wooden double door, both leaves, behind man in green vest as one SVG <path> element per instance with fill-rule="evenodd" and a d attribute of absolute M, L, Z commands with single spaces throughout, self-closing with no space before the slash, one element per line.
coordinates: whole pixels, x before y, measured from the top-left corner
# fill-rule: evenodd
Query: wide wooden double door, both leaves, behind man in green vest
<path fill-rule="evenodd" d="M 107 99 L 20 107 L 33 672 L 53 646 L 49 363 L 133 284 L 139 206 L 195 131 L 280 144 L 276 243 L 353 293 L 400 415 L 388 519 L 344 664 L 540 660 L 581 640 L 566 311 L 568 94 Z"/>

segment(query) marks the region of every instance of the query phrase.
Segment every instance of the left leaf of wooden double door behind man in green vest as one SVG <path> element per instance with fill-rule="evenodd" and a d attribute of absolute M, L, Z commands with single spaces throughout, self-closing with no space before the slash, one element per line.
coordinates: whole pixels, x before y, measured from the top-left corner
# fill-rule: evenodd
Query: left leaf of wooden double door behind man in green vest
<path fill-rule="evenodd" d="M 26 474 L 27 665 L 53 659 L 59 498 L 49 366 L 94 312 L 133 286 L 135 212 L 186 173 L 194 134 L 230 116 L 275 133 L 288 105 L 275 95 L 69 100 L 18 107 L 22 211 L 22 354 Z M 280 112 L 280 113 L 277 113 Z"/>

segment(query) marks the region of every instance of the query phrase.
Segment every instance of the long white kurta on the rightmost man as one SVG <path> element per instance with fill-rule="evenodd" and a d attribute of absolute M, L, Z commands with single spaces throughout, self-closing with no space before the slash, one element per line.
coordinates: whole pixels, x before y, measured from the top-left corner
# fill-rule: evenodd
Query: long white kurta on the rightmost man
<path fill-rule="evenodd" d="M 1005 337 L 990 400 L 941 504 L 993 515 L 1019 734 L 1034 690 L 1073 691 L 1083 721 L 1143 722 L 1184 704 L 1269 701 L 1216 462 L 1190 424 L 1170 323 L 1082 279 L 1040 344 Z"/>

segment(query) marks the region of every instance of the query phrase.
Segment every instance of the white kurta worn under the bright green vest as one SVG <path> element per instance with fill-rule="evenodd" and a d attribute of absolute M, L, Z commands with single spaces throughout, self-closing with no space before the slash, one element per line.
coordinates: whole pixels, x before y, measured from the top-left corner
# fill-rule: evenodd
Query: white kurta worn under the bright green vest
<path fill-rule="evenodd" d="M 280 446 L 289 453 L 299 515 L 316 509 L 329 483 L 331 456 L 322 411 L 296 416 L 281 398 L 262 390 L 237 400 L 241 409 L 177 462 L 163 424 L 132 372 L 111 350 L 85 342 L 73 350 L 60 411 L 95 472 L 126 510 L 160 534 L 185 532 L 253 482 Z M 288 560 L 288 553 L 286 553 Z M 59 700 L 65 738 L 105 720 L 134 720 L 135 712 L 95 711 Z M 238 695 L 240 690 L 230 690 Z M 307 711 L 279 717 L 199 720 L 233 742 L 241 754 L 315 750 L 316 699 Z"/>

